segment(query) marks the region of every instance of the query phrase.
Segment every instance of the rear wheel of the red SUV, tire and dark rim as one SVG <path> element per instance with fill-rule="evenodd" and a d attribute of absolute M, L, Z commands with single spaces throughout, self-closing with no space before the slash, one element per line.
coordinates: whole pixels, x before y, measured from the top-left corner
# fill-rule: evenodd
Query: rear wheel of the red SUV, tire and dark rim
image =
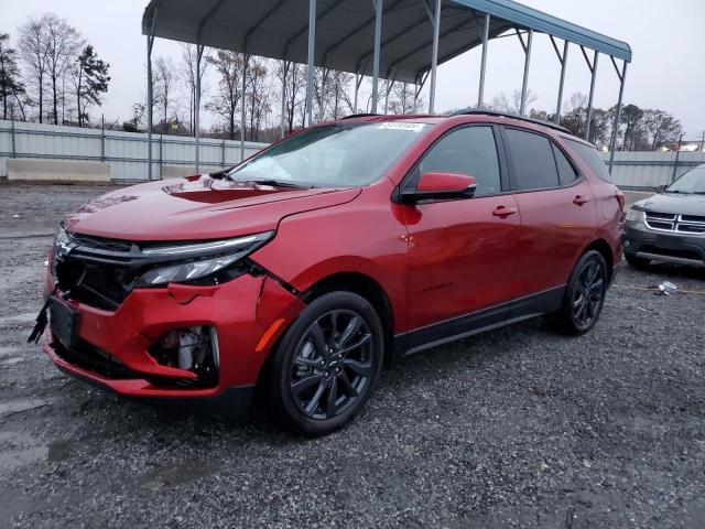
<path fill-rule="evenodd" d="M 607 264 L 600 252 L 585 252 L 573 269 L 561 309 L 553 315 L 555 327 L 571 335 L 593 328 L 603 311 L 608 283 Z"/>

